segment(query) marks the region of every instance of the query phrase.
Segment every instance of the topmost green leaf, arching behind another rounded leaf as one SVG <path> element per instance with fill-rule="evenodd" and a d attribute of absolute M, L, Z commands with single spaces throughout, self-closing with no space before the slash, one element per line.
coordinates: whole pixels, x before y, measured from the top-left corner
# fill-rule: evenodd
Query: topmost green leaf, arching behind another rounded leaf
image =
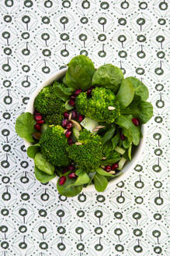
<path fill-rule="evenodd" d="M 78 55 L 71 59 L 71 62 L 68 63 L 68 67 L 76 65 L 81 69 L 85 70 L 85 73 L 92 78 L 93 73 L 95 72 L 95 66 L 91 59 L 88 59 L 85 55 Z"/>

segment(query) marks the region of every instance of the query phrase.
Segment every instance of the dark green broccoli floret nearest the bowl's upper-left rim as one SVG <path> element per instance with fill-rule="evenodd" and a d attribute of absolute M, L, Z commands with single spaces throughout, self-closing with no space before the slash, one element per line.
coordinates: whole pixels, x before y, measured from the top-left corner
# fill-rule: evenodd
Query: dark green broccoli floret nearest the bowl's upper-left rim
<path fill-rule="evenodd" d="M 53 85 L 49 85 L 47 87 L 43 87 L 40 93 L 36 96 L 34 108 L 43 115 L 51 115 L 63 112 L 64 102 L 57 97 L 55 87 Z"/>

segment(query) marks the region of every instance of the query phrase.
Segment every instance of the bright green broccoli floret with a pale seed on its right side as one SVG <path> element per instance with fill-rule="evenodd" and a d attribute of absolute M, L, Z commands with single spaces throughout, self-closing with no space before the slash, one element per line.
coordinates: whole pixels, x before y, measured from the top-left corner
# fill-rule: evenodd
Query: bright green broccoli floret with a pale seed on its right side
<path fill-rule="evenodd" d="M 98 122 L 113 123 L 120 116 L 120 105 L 115 100 L 115 94 L 110 89 L 96 87 L 92 90 L 92 97 L 85 92 L 78 95 L 75 101 L 78 112 Z M 114 107 L 109 110 L 108 107 Z"/>

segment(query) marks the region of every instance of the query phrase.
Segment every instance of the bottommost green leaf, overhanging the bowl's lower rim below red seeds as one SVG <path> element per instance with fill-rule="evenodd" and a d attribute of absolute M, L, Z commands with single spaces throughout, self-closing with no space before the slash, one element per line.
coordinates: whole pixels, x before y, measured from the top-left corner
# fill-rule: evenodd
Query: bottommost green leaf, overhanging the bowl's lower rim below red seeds
<path fill-rule="evenodd" d="M 57 190 L 58 192 L 65 197 L 75 197 L 82 191 L 82 185 L 80 186 L 70 186 L 72 183 L 75 183 L 75 179 L 68 178 L 68 172 L 64 173 L 63 176 L 66 176 L 66 181 L 63 185 L 59 184 L 57 180 Z"/>

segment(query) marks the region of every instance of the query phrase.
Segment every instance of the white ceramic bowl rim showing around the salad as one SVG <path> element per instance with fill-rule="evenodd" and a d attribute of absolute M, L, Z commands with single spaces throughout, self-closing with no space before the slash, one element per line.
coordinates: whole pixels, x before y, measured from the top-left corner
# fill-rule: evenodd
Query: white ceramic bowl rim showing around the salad
<path fill-rule="evenodd" d="M 33 94 L 31 95 L 28 105 L 26 106 L 26 112 L 30 112 L 33 114 L 33 101 L 36 98 L 36 95 L 41 91 L 41 89 L 45 86 L 47 86 L 48 84 L 52 84 L 52 82 L 54 80 L 59 80 L 61 79 L 62 76 L 64 76 L 64 74 L 66 73 L 67 68 L 65 69 L 61 69 L 60 71 L 51 74 L 47 80 L 45 80 L 42 84 L 40 84 L 40 86 L 37 87 L 37 89 L 33 92 Z M 143 133 L 143 137 L 140 141 L 140 144 L 137 146 L 132 161 L 131 162 L 127 162 L 127 164 L 123 167 L 123 174 L 120 176 L 117 176 L 115 179 L 109 181 L 108 187 L 107 189 L 109 189 L 110 187 L 113 187 L 116 183 L 119 183 L 120 180 L 124 180 L 129 174 L 130 174 L 130 170 L 132 170 L 134 168 L 134 165 L 136 164 L 136 162 L 138 160 L 140 160 L 141 157 L 141 153 L 143 151 L 144 148 L 144 141 L 145 141 L 145 137 L 146 137 L 146 127 L 142 126 L 141 127 L 141 131 Z M 27 142 L 25 140 L 25 145 L 26 145 L 26 149 L 31 145 L 29 142 Z M 57 179 L 58 177 L 55 177 L 53 180 L 51 180 L 51 182 L 53 183 L 57 183 Z M 96 192 L 94 185 L 89 185 L 88 187 L 84 187 L 83 188 L 83 192 Z"/>

